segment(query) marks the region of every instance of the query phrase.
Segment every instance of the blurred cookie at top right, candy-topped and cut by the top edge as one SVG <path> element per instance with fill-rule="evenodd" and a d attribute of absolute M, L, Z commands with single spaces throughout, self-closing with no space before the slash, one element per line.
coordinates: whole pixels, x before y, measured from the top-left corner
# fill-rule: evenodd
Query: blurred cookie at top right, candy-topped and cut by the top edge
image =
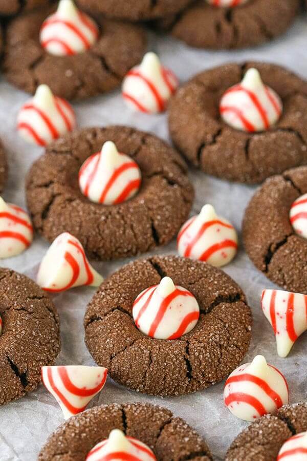
<path fill-rule="evenodd" d="M 247 48 L 285 32 L 298 10 L 299 0 L 249 0 L 233 8 L 199 0 L 178 16 L 162 19 L 158 27 L 192 47 Z"/>

